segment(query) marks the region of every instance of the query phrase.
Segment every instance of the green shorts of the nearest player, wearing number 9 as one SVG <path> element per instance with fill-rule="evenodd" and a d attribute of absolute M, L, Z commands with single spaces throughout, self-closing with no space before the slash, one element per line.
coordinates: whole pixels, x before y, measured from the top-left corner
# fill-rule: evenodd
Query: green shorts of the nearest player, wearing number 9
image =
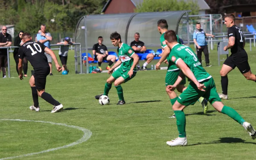
<path fill-rule="evenodd" d="M 221 102 L 221 99 L 218 96 L 213 78 L 206 79 L 200 83 L 204 84 L 204 86 L 206 87 L 204 88 L 205 91 L 198 90 L 198 87 L 196 87 L 196 85 L 193 82 L 191 82 L 189 86 L 186 88 L 186 90 L 184 90 L 183 93 L 180 94 L 177 101 L 181 105 L 185 105 L 185 106 L 195 104 L 195 102 L 200 97 L 204 97 L 211 104 L 216 101 Z"/>

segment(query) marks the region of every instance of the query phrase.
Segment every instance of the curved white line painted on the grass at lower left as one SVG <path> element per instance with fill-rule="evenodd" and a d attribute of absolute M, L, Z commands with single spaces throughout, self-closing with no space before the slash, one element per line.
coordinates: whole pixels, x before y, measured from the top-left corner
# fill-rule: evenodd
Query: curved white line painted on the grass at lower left
<path fill-rule="evenodd" d="M 63 124 L 63 123 L 54 123 L 54 122 L 45 122 L 45 121 L 34 121 L 34 120 L 25 120 L 25 119 L 0 119 L 0 120 L 2 120 L 2 121 L 20 121 L 20 122 L 49 123 L 51 125 L 62 125 L 62 126 L 65 126 L 65 127 L 75 128 L 75 129 L 78 129 L 78 130 L 84 132 L 84 135 L 83 135 L 83 137 L 81 139 L 77 140 L 76 142 L 70 143 L 68 145 L 63 145 L 63 146 L 57 147 L 57 148 L 51 148 L 51 149 L 47 149 L 47 150 L 44 150 L 44 151 L 39 151 L 39 152 L 34 152 L 34 153 L 29 153 L 29 154 L 23 154 L 23 155 L 14 156 L 14 157 L 1 158 L 0 160 L 9 160 L 9 159 L 14 159 L 14 158 L 32 156 L 32 155 L 35 155 L 35 154 L 41 154 L 41 153 L 46 153 L 46 152 L 49 152 L 49 151 L 56 151 L 58 149 L 71 147 L 71 146 L 78 145 L 80 143 L 83 143 L 83 142 L 87 141 L 91 137 L 91 135 L 92 135 L 92 132 L 90 130 L 86 129 L 86 128 L 81 128 L 81 127 L 78 127 L 78 126 L 75 126 L 75 125 L 66 125 L 66 124 Z"/>

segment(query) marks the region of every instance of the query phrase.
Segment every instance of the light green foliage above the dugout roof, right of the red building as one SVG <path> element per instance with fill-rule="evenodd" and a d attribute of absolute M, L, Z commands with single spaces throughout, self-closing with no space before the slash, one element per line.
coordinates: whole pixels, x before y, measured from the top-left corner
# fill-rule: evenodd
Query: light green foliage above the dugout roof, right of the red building
<path fill-rule="evenodd" d="M 164 11 L 182 11 L 191 10 L 190 15 L 196 15 L 199 12 L 197 1 L 193 0 L 143 0 L 137 4 L 135 12 L 164 12 Z"/>

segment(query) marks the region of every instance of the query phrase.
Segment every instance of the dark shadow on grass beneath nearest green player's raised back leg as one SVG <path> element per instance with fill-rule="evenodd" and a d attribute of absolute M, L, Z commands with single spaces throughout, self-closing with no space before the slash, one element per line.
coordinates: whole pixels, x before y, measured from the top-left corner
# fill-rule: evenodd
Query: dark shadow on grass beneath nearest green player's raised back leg
<path fill-rule="evenodd" d="M 245 140 L 242 140 L 241 138 L 234 138 L 234 137 L 223 137 L 220 138 L 219 140 L 215 140 L 209 143 L 195 143 L 191 145 L 186 145 L 186 146 L 193 146 L 193 145 L 204 145 L 204 144 L 218 144 L 218 143 L 229 143 L 229 144 L 235 144 L 235 143 L 246 143 L 246 144 L 253 144 L 256 145 L 254 142 L 246 142 Z"/>

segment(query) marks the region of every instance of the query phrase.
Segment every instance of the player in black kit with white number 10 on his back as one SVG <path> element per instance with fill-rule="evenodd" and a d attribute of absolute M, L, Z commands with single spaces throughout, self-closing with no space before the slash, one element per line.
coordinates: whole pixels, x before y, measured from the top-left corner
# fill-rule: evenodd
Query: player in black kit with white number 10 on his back
<path fill-rule="evenodd" d="M 38 102 L 38 96 L 40 96 L 42 99 L 47 101 L 48 103 L 52 104 L 54 106 L 51 113 L 55 113 L 56 111 L 63 108 L 63 105 L 60 104 L 60 102 L 56 101 L 49 93 L 46 93 L 44 91 L 45 84 L 46 84 L 46 77 L 50 73 L 50 67 L 47 61 L 47 57 L 44 54 L 46 52 L 47 54 L 52 56 L 53 61 L 55 62 L 55 66 L 58 70 L 58 72 L 61 71 L 61 67 L 58 64 L 57 58 L 52 52 L 51 49 L 44 46 L 44 44 L 41 44 L 40 42 L 32 41 L 31 35 L 29 33 L 23 33 L 22 35 L 22 41 L 23 45 L 20 46 L 20 49 L 18 51 L 19 56 L 19 64 L 18 64 L 18 70 L 20 73 L 20 80 L 23 79 L 23 58 L 26 57 L 26 59 L 31 63 L 34 74 L 31 76 L 29 80 L 29 84 L 32 89 L 32 98 L 34 101 L 34 105 L 30 106 L 30 110 L 39 112 L 39 102 Z"/>

